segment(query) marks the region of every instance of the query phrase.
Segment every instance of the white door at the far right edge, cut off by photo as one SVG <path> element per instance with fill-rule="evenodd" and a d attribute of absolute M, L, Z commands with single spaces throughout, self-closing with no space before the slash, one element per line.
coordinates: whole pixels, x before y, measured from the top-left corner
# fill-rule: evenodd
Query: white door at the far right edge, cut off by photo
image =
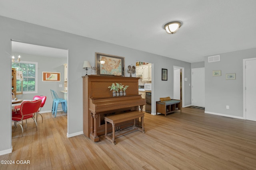
<path fill-rule="evenodd" d="M 256 59 L 245 61 L 246 119 L 256 121 Z"/>

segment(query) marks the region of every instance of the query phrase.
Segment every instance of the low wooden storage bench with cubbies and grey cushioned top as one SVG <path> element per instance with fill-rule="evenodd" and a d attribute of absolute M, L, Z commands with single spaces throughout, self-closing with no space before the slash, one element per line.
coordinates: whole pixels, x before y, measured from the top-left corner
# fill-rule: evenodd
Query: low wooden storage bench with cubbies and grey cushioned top
<path fill-rule="evenodd" d="M 167 101 L 158 101 L 156 102 L 156 114 L 161 113 L 166 116 L 168 113 L 172 113 L 174 111 L 181 111 L 181 100 L 167 100 Z"/>

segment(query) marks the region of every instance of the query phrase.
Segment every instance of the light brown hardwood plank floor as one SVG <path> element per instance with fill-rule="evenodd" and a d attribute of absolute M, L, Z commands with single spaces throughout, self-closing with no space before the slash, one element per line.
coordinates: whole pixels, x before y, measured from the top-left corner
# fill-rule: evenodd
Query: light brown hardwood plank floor
<path fill-rule="evenodd" d="M 136 131 L 116 139 L 100 136 L 94 143 L 84 135 L 66 137 L 67 116 L 43 113 L 38 131 L 28 121 L 24 136 L 12 127 L 13 152 L 0 160 L 29 160 L 30 164 L 1 164 L 14 169 L 256 169 L 256 122 L 182 108 L 167 115 L 145 113 L 145 132 Z"/>

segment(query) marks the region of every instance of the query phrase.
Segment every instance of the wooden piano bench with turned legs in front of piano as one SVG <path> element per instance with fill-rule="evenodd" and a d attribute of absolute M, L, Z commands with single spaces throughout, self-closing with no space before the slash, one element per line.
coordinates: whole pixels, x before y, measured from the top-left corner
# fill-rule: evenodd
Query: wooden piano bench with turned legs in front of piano
<path fill-rule="evenodd" d="M 141 128 L 140 127 L 136 127 L 136 119 L 140 118 L 141 121 Z M 124 133 L 120 133 L 118 135 L 115 135 L 115 131 L 116 131 L 116 127 L 115 127 L 115 123 L 120 123 L 120 122 L 124 122 L 124 121 L 129 121 L 133 119 L 133 129 L 129 130 L 129 131 L 125 131 Z M 142 133 L 145 133 L 144 131 L 144 113 L 142 111 L 131 111 L 131 112 L 126 112 L 126 113 L 121 113 L 121 114 L 116 114 L 116 115 L 110 115 L 110 116 L 105 116 L 104 117 L 105 120 L 105 138 L 108 139 L 110 142 L 112 142 L 112 144 L 116 145 L 116 137 L 120 136 L 120 135 L 124 135 L 126 133 L 130 133 L 132 131 L 141 131 Z M 107 135 L 107 123 L 112 123 L 112 138 L 110 136 Z"/>

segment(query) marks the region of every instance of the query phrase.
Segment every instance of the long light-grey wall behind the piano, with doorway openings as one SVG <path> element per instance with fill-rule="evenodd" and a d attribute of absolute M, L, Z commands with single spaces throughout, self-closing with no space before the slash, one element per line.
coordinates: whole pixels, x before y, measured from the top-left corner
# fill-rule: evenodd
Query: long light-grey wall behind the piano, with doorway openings
<path fill-rule="evenodd" d="M 138 51 L 90 39 L 62 31 L 13 20 L 0 16 L 0 56 L 1 56 L 1 119 L 0 128 L 0 154 L 11 149 L 11 39 L 35 45 L 68 49 L 68 135 L 79 134 L 83 130 L 82 122 L 82 76 L 86 71 L 82 68 L 83 61 L 89 61 L 95 65 L 95 52 L 125 57 L 125 66 L 136 63 L 136 61 L 147 61 L 152 63 L 154 86 L 152 92 L 152 103 L 154 104 L 162 96 L 173 96 L 173 65 L 185 68 L 185 76 L 188 82 L 184 84 L 185 105 L 191 104 L 191 83 L 190 63 Z M 168 69 L 168 81 L 162 81 L 162 68 Z M 127 75 L 128 76 L 128 75 Z M 135 76 L 135 75 L 134 75 Z M 153 105 L 152 111 L 156 109 Z"/>

